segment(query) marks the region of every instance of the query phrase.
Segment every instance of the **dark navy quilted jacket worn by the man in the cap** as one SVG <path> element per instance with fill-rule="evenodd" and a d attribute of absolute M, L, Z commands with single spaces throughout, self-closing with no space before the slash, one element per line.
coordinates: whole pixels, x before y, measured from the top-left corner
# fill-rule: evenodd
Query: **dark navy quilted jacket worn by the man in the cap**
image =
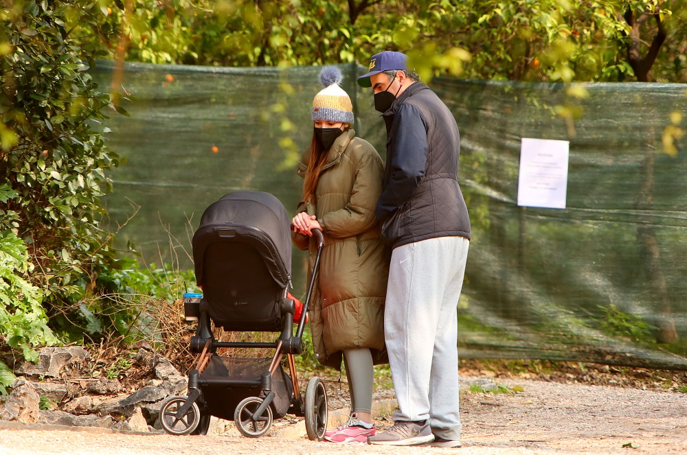
<path fill-rule="evenodd" d="M 449 108 L 416 82 L 382 116 L 387 159 L 375 215 L 383 235 L 394 248 L 433 237 L 469 239 L 470 218 L 458 185 L 460 135 Z"/>

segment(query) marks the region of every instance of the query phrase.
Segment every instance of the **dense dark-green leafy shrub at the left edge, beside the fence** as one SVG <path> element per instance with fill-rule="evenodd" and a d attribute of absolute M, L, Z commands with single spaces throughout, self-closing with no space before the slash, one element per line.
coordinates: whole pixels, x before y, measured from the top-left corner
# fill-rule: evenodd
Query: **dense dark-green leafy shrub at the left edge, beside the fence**
<path fill-rule="evenodd" d="M 5 1 L 0 10 L 0 336 L 26 358 L 30 346 L 56 342 L 46 316 L 63 339 L 80 339 L 80 303 L 117 266 L 100 196 L 119 158 L 93 130 L 111 97 L 87 72 L 94 50 L 66 25 L 102 14 L 87 1 Z"/>

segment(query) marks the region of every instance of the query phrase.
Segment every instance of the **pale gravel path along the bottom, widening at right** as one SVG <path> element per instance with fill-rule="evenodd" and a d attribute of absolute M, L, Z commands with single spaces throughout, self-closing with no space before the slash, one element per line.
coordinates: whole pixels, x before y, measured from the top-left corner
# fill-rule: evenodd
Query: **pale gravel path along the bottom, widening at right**
<path fill-rule="evenodd" d="M 499 384 L 523 391 L 461 395 L 461 449 L 337 445 L 274 434 L 247 439 L 0 427 L 0 455 L 687 454 L 686 393 L 535 380 Z"/>

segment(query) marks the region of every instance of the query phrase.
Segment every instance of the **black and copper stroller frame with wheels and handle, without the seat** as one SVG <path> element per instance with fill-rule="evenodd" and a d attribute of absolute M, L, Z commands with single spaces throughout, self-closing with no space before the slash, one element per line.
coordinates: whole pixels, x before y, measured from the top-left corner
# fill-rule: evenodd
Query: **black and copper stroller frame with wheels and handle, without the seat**
<path fill-rule="evenodd" d="M 241 229 L 251 229 L 251 227 L 227 226 L 226 228 L 219 229 L 218 235 L 219 237 L 234 237 L 236 231 Z M 286 289 L 284 289 L 284 297 L 278 302 L 280 314 L 284 317 L 282 317 L 280 336 L 275 342 L 218 341 L 212 334 L 210 305 L 207 299 L 204 296 L 200 299 L 184 299 L 186 319 L 197 321 L 196 332 L 190 340 L 190 350 L 194 353 L 200 353 L 200 355 L 194 369 L 188 373 L 188 394 L 186 396 L 170 397 L 165 401 L 160 410 L 159 420 L 166 432 L 177 435 L 207 434 L 212 415 L 225 419 L 231 419 L 232 417 L 231 414 L 227 413 L 230 409 L 223 409 L 221 412 L 217 412 L 217 406 L 214 406 L 214 408 L 210 406 L 207 401 L 207 395 L 213 395 L 214 390 L 248 389 L 251 392 L 257 391 L 256 396 L 249 396 L 240 401 L 233 412 L 234 423 L 241 434 L 249 437 L 258 437 L 266 434 L 269 428 L 271 428 L 274 410 L 278 413 L 278 417 L 286 413 L 305 417 L 308 438 L 318 441 L 324 438 L 328 419 L 324 383 L 318 377 L 311 378 L 303 395 L 298 384 L 295 368 L 295 355 L 303 351 L 302 335 L 313 295 L 317 271 L 319 270 L 319 259 L 324 246 L 324 236 L 321 231 L 313 229 L 313 236 L 317 244 L 317 254 L 295 335 L 293 333 L 295 302 L 293 299 L 286 298 Z M 288 278 L 290 281 L 290 275 Z M 239 330 L 232 329 L 232 331 Z M 275 349 L 275 353 L 269 362 L 269 366 L 262 371 L 259 378 L 229 377 L 228 374 L 227 377 L 218 377 L 217 375 L 214 377 L 212 375 L 203 376 L 203 373 L 208 370 L 208 366 L 211 363 L 213 368 L 215 368 L 217 365 L 222 366 L 221 362 L 224 361 L 242 360 L 222 358 L 216 355 L 218 348 L 267 348 Z M 286 355 L 289 365 L 290 381 L 288 380 L 288 375 L 285 375 L 281 368 L 284 355 Z M 263 360 L 266 361 L 267 359 Z M 267 363 L 265 362 L 264 364 Z M 275 377 L 278 379 L 278 384 L 273 383 L 273 378 Z M 286 384 L 286 382 L 290 384 Z M 289 395 L 289 406 L 286 412 L 276 411 L 275 397 L 278 394 L 275 393 L 274 387 L 281 387 L 282 397 L 280 399 L 282 401 L 280 406 L 282 409 L 284 408 L 283 395 L 284 393 Z M 213 398 L 216 397 L 218 395 L 214 395 Z M 229 408 L 231 406 L 233 406 L 233 403 Z"/>

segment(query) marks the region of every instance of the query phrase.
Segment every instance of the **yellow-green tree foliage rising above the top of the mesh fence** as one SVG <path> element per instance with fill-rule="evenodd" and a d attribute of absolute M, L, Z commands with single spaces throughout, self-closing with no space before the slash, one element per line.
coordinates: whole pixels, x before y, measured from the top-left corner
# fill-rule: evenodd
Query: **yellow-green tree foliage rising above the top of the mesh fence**
<path fill-rule="evenodd" d="M 153 63 L 322 65 L 407 51 L 420 73 L 687 81 L 684 0 L 115 1 L 89 42 Z M 107 37 L 107 38 L 105 38 Z M 649 71 L 651 69 L 651 71 Z"/>

